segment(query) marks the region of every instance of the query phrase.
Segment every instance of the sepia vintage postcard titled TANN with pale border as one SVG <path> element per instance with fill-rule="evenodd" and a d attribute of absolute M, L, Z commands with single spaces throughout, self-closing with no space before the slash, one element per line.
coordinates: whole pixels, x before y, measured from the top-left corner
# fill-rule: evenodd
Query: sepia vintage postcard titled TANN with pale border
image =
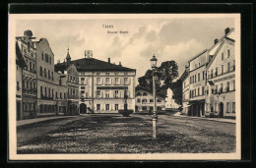
<path fill-rule="evenodd" d="M 10 160 L 239 160 L 239 14 L 9 14 Z"/>

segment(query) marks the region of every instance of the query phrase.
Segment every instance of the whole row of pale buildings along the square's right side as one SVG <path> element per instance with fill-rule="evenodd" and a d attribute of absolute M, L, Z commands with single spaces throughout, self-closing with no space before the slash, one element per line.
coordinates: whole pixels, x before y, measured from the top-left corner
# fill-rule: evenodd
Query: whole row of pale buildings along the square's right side
<path fill-rule="evenodd" d="M 225 28 L 214 45 L 188 61 L 180 77 L 182 112 L 189 116 L 235 117 L 235 29 Z"/>

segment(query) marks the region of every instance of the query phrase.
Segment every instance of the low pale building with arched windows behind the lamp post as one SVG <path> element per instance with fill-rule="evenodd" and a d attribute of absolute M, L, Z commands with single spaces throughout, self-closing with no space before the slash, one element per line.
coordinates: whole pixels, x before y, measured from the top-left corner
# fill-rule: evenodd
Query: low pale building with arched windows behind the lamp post
<path fill-rule="evenodd" d="M 154 97 L 150 89 L 141 85 L 136 86 L 135 91 L 135 112 L 153 111 L 154 110 Z M 165 95 L 156 93 L 157 110 L 165 110 Z"/>

